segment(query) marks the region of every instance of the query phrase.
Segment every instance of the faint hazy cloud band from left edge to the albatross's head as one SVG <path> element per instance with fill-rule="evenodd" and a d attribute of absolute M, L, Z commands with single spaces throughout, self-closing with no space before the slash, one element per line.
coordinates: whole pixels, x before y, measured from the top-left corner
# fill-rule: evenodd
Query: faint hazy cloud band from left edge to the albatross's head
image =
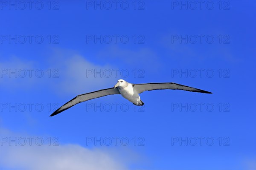
<path fill-rule="evenodd" d="M 13 57 L 1 62 L 0 66 L 1 86 L 12 91 L 20 88 L 41 89 L 44 87 L 52 89 L 58 94 L 77 95 L 113 87 L 120 78 L 114 74 L 113 66 L 96 65 L 87 61 L 86 57 L 70 51 L 55 52 L 49 58 L 49 63 L 38 63 L 36 60 L 21 60 Z M 36 73 L 37 70 L 40 71 Z M 89 70 L 93 73 L 87 74 Z M 109 70 L 111 76 L 109 76 Z M 38 77 L 41 71 L 43 76 Z M 16 72 L 16 74 L 10 74 L 10 72 Z M 102 74 L 95 74 L 96 72 L 102 72 Z"/>

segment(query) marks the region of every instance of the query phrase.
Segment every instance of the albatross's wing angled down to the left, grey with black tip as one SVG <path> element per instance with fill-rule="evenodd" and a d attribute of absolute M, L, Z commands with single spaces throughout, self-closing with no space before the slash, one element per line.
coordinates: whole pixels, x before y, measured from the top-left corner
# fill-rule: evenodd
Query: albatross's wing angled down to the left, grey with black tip
<path fill-rule="evenodd" d="M 93 92 L 87 93 L 87 94 L 78 95 L 74 99 L 70 100 L 69 102 L 67 102 L 60 108 L 58 108 L 50 116 L 54 116 L 58 113 L 61 113 L 62 111 L 65 111 L 68 108 L 71 108 L 72 106 L 74 106 L 78 103 L 85 102 L 90 99 L 95 99 L 95 98 L 111 95 L 111 94 L 120 94 L 120 92 L 119 92 L 118 88 L 107 88 L 107 89 L 103 89 L 103 90 L 99 90 L 99 91 L 93 91 Z"/>

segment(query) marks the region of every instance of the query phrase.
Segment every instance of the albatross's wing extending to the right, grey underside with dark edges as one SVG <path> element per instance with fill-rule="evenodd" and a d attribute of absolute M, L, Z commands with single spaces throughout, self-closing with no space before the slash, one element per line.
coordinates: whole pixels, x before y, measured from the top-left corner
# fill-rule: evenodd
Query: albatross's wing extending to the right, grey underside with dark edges
<path fill-rule="evenodd" d="M 173 82 L 133 84 L 133 88 L 134 90 L 137 91 L 138 94 L 142 93 L 143 91 L 163 90 L 163 89 L 184 90 L 184 91 L 193 91 L 193 92 L 199 92 L 199 93 L 212 94 L 209 91 L 200 90 L 198 88 L 192 88 L 186 85 L 179 85 Z"/>

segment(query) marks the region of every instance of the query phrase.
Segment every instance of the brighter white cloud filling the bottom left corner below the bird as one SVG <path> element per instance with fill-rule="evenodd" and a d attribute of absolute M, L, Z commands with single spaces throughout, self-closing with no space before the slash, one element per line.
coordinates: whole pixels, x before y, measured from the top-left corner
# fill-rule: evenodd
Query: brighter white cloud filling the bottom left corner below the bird
<path fill-rule="evenodd" d="M 78 144 L 59 144 L 59 146 L 55 146 L 51 143 L 49 146 L 45 137 L 41 137 L 44 139 L 41 146 L 37 145 L 34 139 L 31 140 L 30 145 L 27 136 L 31 137 L 32 135 L 17 134 L 3 128 L 0 131 L 1 169 L 127 169 L 123 163 L 124 160 L 118 156 L 119 153 L 116 150 L 88 149 Z M 9 137 L 12 141 L 16 141 L 16 146 L 15 142 L 9 143 Z M 26 144 L 24 144 L 24 140 L 20 140 L 21 137 L 27 139 Z M 4 142 L 3 138 L 8 141 Z M 38 143 L 41 143 L 41 141 Z M 129 153 L 126 156 L 129 157 Z"/>

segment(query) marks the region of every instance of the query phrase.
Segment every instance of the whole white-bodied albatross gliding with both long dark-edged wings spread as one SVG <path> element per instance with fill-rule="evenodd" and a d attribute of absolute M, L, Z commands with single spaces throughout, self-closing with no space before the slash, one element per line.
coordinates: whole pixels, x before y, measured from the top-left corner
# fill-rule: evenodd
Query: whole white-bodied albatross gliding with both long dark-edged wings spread
<path fill-rule="evenodd" d="M 198 88 L 192 88 L 186 85 L 180 85 L 173 82 L 131 84 L 129 82 L 126 82 L 123 79 L 119 79 L 113 88 L 102 89 L 99 91 L 93 91 L 90 93 L 80 94 L 76 96 L 75 98 L 73 98 L 72 100 L 70 100 L 63 106 L 61 106 L 60 108 L 58 108 L 50 116 L 54 116 L 58 113 L 61 113 L 78 103 L 85 102 L 91 99 L 96 99 L 103 96 L 112 95 L 112 94 L 121 94 L 125 99 L 128 99 L 134 105 L 143 106 L 144 103 L 140 99 L 139 94 L 141 94 L 144 91 L 164 90 L 164 89 L 184 90 L 184 91 L 212 94 L 209 91 L 204 91 Z"/>

